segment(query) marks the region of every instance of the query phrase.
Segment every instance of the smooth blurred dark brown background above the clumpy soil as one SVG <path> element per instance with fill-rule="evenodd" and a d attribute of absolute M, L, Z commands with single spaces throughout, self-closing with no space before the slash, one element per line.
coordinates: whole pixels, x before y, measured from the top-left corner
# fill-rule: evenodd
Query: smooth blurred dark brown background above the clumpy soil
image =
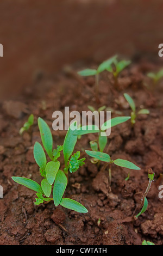
<path fill-rule="evenodd" d="M 35 76 L 115 53 L 155 54 L 163 43 L 162 0 L 1 0 L 0 100 Z"/>

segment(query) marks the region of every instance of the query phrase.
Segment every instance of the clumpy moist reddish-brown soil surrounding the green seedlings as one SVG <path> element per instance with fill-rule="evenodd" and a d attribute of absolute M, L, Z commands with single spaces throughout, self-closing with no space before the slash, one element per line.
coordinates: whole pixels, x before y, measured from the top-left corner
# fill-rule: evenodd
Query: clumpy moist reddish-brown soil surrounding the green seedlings
<path fill-rule="evenodd" d="M 121 72 L 117 84 L 112 75 L 103 72 L 99 82 L 100 103 L 96 103 L 94 77 L 78 77 L 83 68 L 97 68 L 87 61 L 66 67 L 51 77 L 39 75 L 32 86 L 26 87 L 16 99 L 1 102 L 0 112 L 0 184 L 4 198 L 0 199 L 0 245 L 141 245 L 149 240 L 163 244 L 163 199 L 158 187 L 163 165 L 163 99 L 162 83 L 153 85 L 146 76 L 161 67 L 159 60 L 133 58 Z M 149 87 L 149 88 L 148 88 Z M 35 192 L 16 184 L 11 176 L 24 176 L 41 182 L 39 167 L 33 157 L 36 141 L 41 143 L 37 117 L 42 117 L 52 130 L 52 113 L 69 106 L 70 111 L 88 111 L 88 105 L 112 108 L 111 117 L 130 115 L 123 93 L 133 97 L 137 109 L 148 108 L 149 115 L 139 115 L 131 127 L 130 121 L 111 129 L 105 153 L 112 159 L 134 162 L 141 170 L 112 166 L 109 185 L 108 169 L 97 167 L 84 152 L 96 134 L 84 135 L 74 151 L 82 151 L 85 165 L 69 174 L 65 197 L 85 205 L 87 214 L 79 214 L 53 202 L 34 205 Z M 19 135 L 19 130 L 33 113 L 34 125 Z M 64 141 L 66 131 L 53 131 L 54 147 Z M 63 165 L 63 156 L 60 157 Z M 155 173 L 147 195 L 148 208 L 137 220 L 143 193 L 148 185 L 148 168 Z M 136 210 L 136 211 L 135 211 Z M 100 221 L 99 221 L 100 220 Z"/>

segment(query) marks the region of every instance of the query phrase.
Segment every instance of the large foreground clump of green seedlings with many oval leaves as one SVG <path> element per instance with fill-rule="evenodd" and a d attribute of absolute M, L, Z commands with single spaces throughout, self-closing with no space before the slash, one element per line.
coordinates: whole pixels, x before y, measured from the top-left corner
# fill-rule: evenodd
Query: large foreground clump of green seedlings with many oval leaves
<path fill-rule="evenodd" d="M 36 202 L 34 204 L 39 205 L 44 201 L 49 202 L 54 201 L 54 205 L 59 204 L 67 209 L 71 209 L 77 212 L 86 213 L 87 209 L 80 203 L 72 200 L 70 198 L 64 198 L 64 192 L 67 186 L 67 176 L 68 169 L 70 168 L 70 173 L 76 172 L 80 166 L 84 164 L 84 158 L 79 159 L 80 151 L 77 151 L 72 155 L 74 146 L 77 141 L 77 135 L 74 135 L 72 130 L 73 125 L 76 126 L 76 122 L 72 123 L 66 133 L 66 137 L 63 145 L 58 145 L 57 149 L 53 149 L 53 138 L 51 130 L 46 122 L 42 118 L 38 118 L 38 125 L 41 135 L 41 140 L 43 147 L 49 156 L 50 161 L 47 162 L 46 154 L 39 142 L 35 142 L 34 145 L 34 159 L 38 166 L 40 167 L 40 174 L 43 177 L 41 185 L 36 181 L 13 176 L 12 180 L 36 191 Z M 60 161 L 58 160 L 63 151 L 65 160 L 65 170 L 60 169 Z M 51 198 L 53 186 L 53 198 Z"/>

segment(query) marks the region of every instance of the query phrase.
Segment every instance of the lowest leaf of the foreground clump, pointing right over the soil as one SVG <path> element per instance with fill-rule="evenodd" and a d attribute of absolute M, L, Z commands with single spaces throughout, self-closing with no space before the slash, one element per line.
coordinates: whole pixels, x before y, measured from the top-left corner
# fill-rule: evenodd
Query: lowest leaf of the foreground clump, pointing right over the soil
<path fill-rule="evenodd" d="M 82 204 L 70 198 L 62 198 L 60 205 L 67 209 L 80 212 L 82 214 L 86 214 L 86 212 L 88 212 L 88 210 Z"/>

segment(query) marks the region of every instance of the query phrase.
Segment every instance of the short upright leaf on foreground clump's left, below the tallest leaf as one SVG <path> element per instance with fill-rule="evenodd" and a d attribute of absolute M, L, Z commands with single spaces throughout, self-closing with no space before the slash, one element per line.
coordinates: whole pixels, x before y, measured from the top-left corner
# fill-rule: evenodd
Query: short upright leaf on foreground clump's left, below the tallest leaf
<path fill-rule="evenodd" d="M 34 144 L 34 159 L 38 166 L 42 169 L 45 170 L 46 167 L 46 155 L 45 152 L 43 151 L 43 148 L 39 142 L 35 142 Z"/>

